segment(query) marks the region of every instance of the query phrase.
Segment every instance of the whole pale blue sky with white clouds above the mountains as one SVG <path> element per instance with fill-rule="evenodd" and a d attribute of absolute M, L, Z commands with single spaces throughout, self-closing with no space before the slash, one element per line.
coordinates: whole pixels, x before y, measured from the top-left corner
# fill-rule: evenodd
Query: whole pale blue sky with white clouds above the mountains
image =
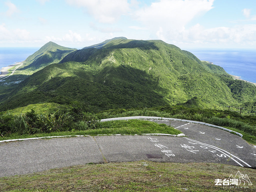
<path fill-rule="evenodd" d="M 121 36 L 256 49 L 256 0 L 0 0 L 0 47 L 82 48 Z"/>

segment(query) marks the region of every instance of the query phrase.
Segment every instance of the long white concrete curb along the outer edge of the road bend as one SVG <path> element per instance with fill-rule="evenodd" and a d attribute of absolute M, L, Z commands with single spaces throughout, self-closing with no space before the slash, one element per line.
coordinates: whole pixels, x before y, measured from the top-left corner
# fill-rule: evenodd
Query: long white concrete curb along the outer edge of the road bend
<path fill-rule="evenodd" d="M 174 120 L 174 121 L 184 121 L 184 122 L 189 122 L 189 123 L 198 123 L 198 124 L 207 125 L 207 126 L 210 126 L 210 127 L 215 127 L 215 128 L 218 128 L 218 129 L 222 129 L 222 130 L 225 130 L 225 131 L 229 131 L 229 132 L 234 132 L 237 135 L 243 137 L 243 135 L 241 133 L 238 133 L 236 131 L 232 131 L 230 129 L 226 129 L 224 127 L 220 127 L 220 126 L 217 126 L 217 125 L 212 125 L 212 124 L 204 123 L 204 122 L 200 122 L 200 121 L 186 120 L 186 119 L 174 119 L 174 118 L 165 118 L 165 117 L 150 117 L 150 116 L 133 116 L 133 117 L 119 117 L 119 118 L 102 119 L 102 120 L 100 120 L 100 122 L 123 120 L 123 119 L 124 120 L 128 120 L 128 119 L 161 119 L 161 120 Z"/>

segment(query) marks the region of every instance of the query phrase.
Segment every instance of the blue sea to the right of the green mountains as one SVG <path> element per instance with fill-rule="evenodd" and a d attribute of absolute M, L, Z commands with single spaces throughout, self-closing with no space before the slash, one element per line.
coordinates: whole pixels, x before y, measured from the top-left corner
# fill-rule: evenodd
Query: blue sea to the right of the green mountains
<path fill-rule="evenodd" d="M 256 49 L 187 49 L 198 59 L 213 62 L 231 75 L 256 83 Z"/>

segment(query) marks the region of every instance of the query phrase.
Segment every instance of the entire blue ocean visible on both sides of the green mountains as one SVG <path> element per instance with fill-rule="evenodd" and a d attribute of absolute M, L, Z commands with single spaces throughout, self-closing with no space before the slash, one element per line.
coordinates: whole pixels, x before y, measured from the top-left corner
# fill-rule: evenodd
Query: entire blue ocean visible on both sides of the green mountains
<path fill-rule="evenodd" d="M 0 47 L 0 69 L 15 62 L 24 61 L 39 47 Z M 220 49 L 186 49 L 200 60 L 213 62 L 231 75 L 256 83 L 256 49 L 220 50 Z"/>

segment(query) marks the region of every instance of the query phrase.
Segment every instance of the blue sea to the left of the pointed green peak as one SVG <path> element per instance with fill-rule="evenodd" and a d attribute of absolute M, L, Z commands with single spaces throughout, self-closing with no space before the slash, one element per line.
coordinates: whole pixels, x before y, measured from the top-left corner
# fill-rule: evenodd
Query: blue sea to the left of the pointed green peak
<path fill-rule="evenodd" d="M 38 49 L 38 47 L 0 47 L 0 69 L 24 61 Z"/>

